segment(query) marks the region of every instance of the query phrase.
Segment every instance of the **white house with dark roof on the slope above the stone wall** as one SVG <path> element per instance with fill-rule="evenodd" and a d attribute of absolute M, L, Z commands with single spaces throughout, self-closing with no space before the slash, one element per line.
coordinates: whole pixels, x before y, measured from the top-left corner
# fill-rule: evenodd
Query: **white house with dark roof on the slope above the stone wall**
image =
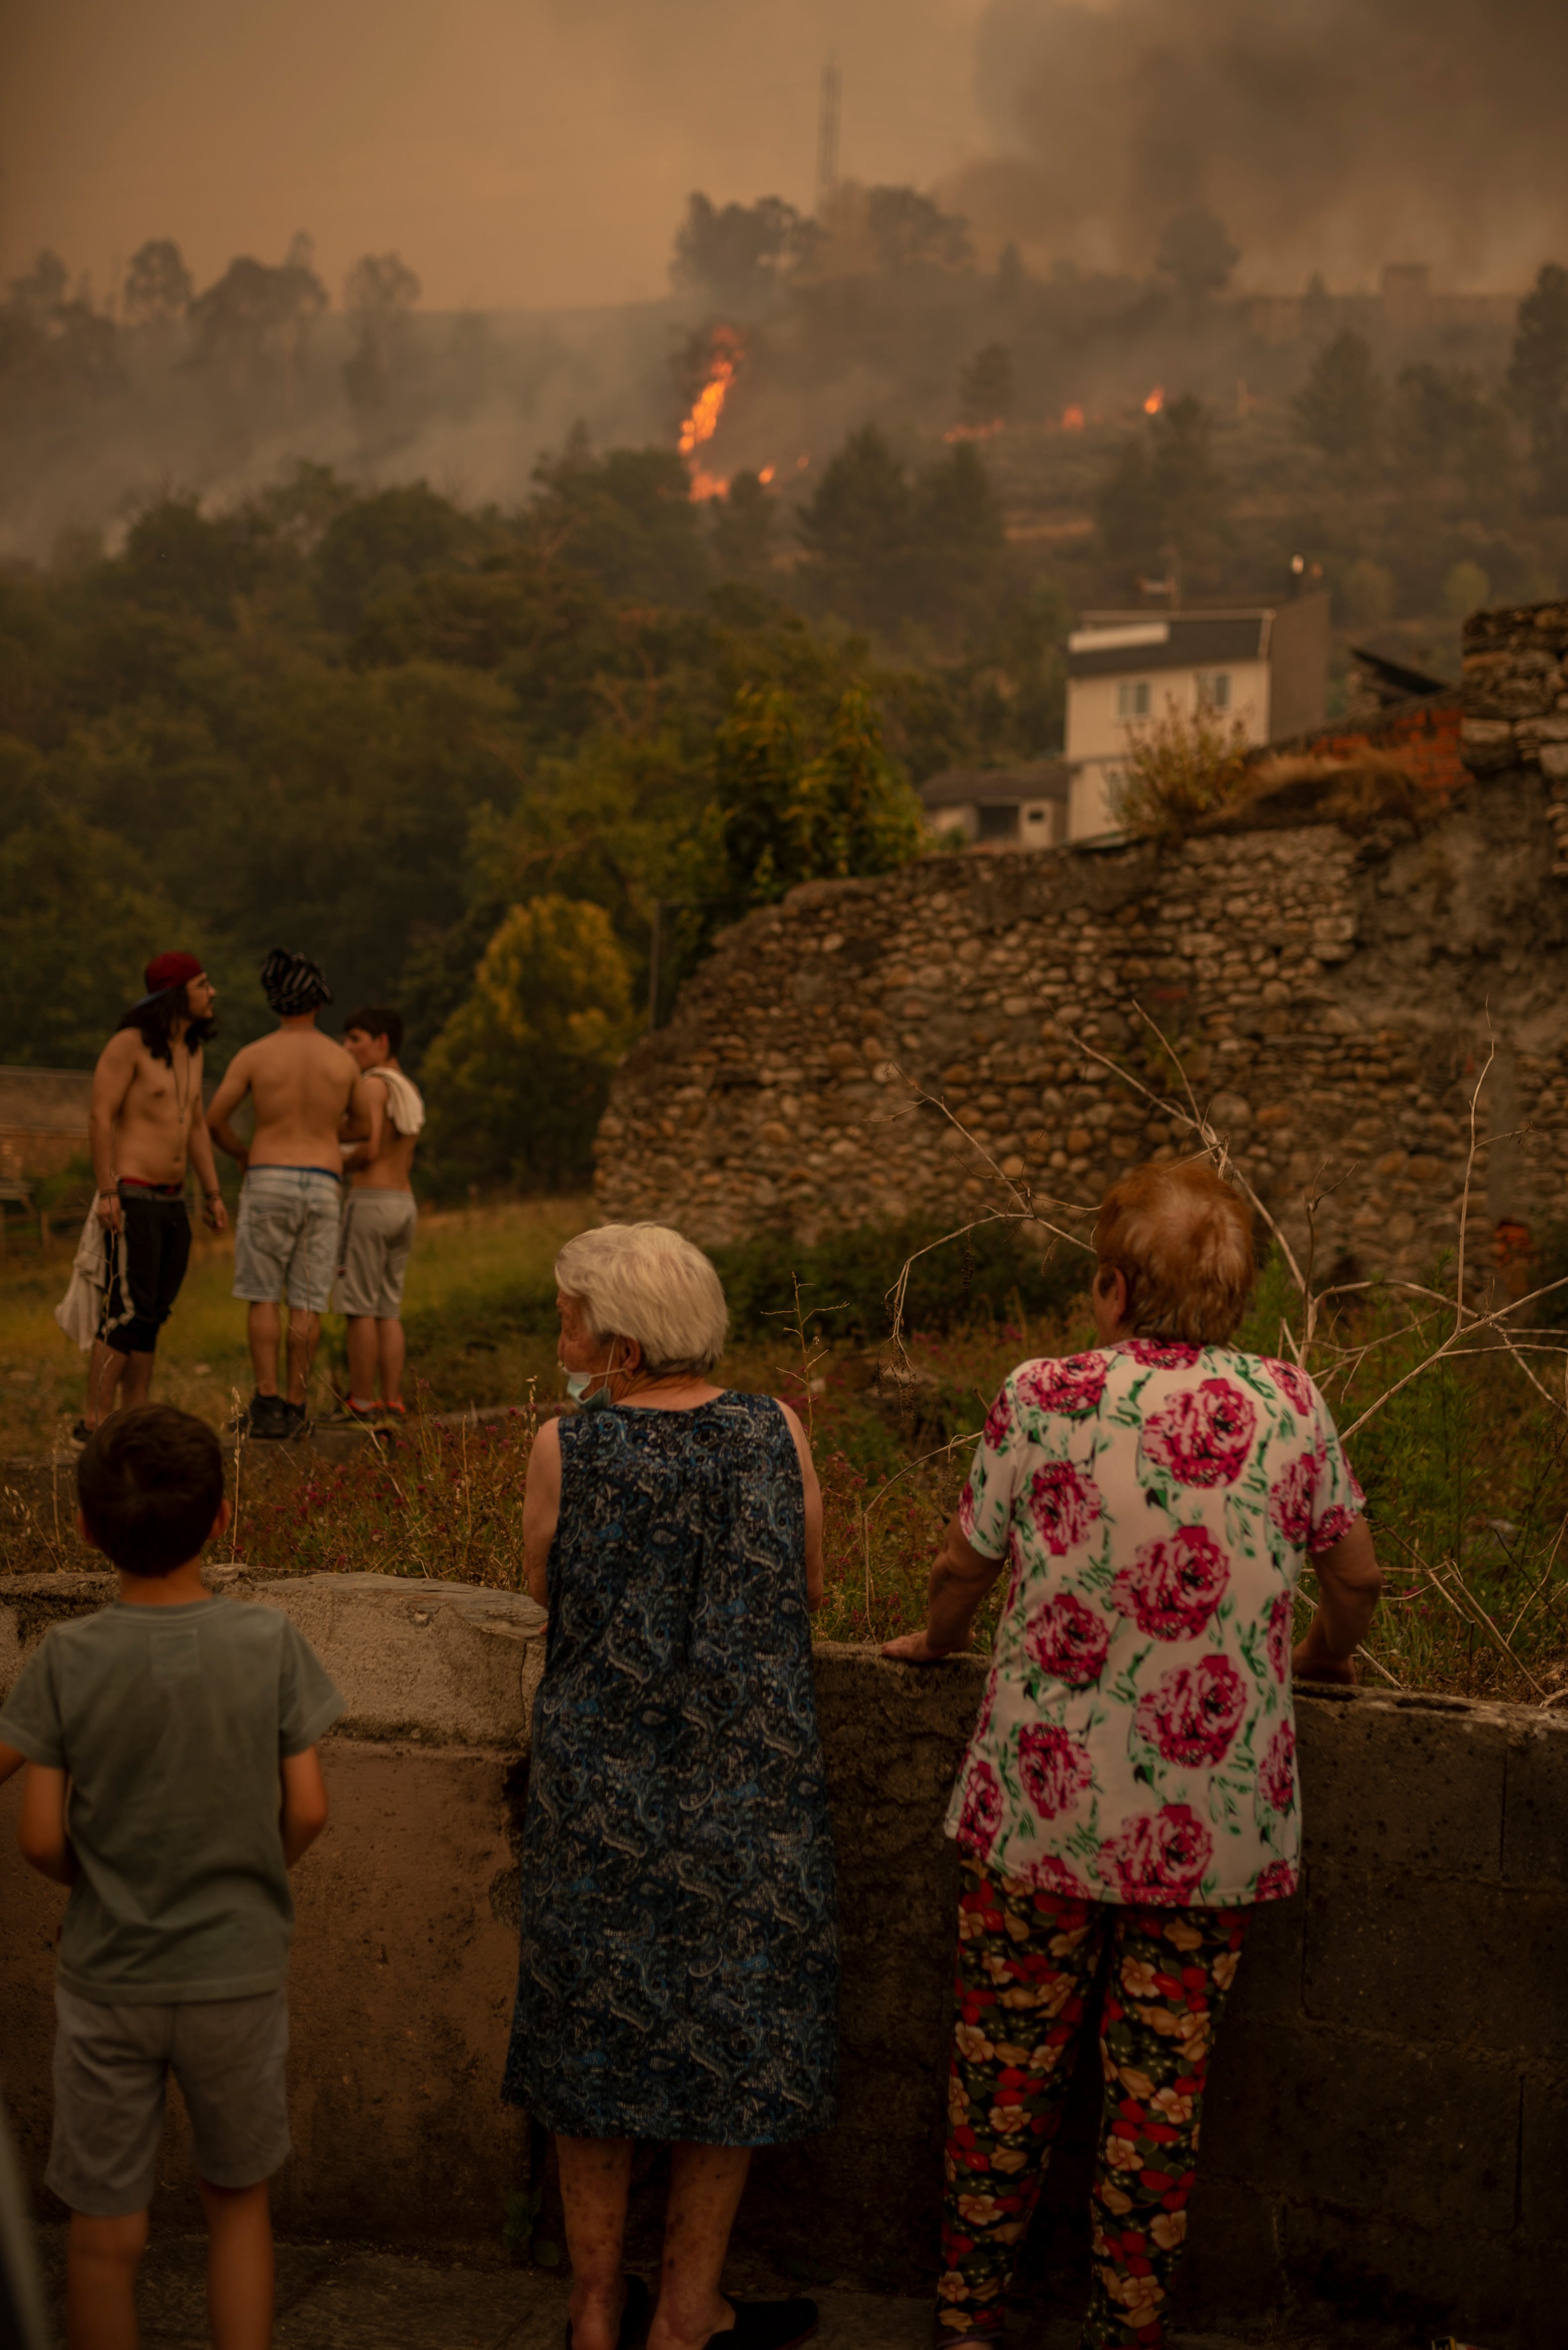
<path fill-rule="evenodd" d="M 1248 743 L 1324 724 L 1328 597 L 1225 611 L 1086 611 L 1067 637 L 1067 839 L 1114 832 L 1128 736 L 1175 707 L 1241 719 Z"/>

